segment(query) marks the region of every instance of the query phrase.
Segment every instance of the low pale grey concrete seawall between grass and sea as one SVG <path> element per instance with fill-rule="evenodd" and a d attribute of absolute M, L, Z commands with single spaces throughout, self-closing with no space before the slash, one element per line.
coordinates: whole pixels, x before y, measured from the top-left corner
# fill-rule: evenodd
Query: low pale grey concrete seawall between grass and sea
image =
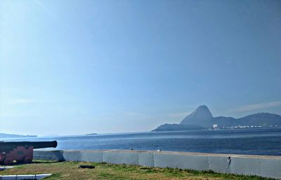
<path fill-rule="evenodd" d="M 34 151 L 34 159 L 124 163 L 148 167 L 178 167 L 281 179 L 281 156 L 270 155 L 169 151 Z"/>

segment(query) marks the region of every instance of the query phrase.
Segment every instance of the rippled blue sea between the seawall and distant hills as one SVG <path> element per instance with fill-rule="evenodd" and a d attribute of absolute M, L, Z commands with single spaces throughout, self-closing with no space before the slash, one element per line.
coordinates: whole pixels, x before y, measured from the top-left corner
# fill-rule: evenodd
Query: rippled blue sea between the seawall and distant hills
<path fill-rule="evenodd" d="M 50 149 L 126 149 L 281 155 L 281 128 L 137 132 L 68 137 L 0 139 L 1 141 L 58 141 Z"/>

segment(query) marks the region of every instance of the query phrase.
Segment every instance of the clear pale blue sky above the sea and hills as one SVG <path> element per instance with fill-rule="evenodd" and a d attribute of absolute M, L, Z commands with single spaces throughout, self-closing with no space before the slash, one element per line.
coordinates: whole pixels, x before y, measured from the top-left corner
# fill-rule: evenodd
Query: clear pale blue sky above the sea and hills
<path fill-rule="evenodd" d="M 0 1 L 0 132 L 281 114 L 281 1 Z"/>

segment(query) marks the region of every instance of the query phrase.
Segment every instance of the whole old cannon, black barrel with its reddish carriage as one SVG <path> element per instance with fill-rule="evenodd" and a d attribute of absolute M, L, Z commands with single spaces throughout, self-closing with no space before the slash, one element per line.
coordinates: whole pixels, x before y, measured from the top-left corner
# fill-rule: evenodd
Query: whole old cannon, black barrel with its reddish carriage
<path fill-rule="evenodd" d="M 55 148 L 57 141 L 0 141 L 0 163 L 11 165 L 17 162 L 30 163 L 34 148 Z"/>

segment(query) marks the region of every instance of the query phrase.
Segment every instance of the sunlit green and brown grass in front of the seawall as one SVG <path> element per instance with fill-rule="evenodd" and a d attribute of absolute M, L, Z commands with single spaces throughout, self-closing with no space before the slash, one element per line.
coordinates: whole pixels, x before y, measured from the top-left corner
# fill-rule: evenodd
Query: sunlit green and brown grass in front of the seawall
<path fill-rule="evenodd" d="M 95 169 L 79 169 L 79 165 L 94 165 Z M 0 175 L 8 174 L 45 174 L 52 176 L 46 180 L 69 180 L 69 179 L 243 179 L 243 180 L 266 180 L 259 176 L 244 176 L 234 174 L 220 174 L 212 171 L 195 171 L 189 169 L 171 169 L 141 167 L 135 165 L 112 165 L 107 163 L 92 162 L 55 162 L 37 160 L 28 165 L 15 165 L 15 168 L 0 172 Z"/>

